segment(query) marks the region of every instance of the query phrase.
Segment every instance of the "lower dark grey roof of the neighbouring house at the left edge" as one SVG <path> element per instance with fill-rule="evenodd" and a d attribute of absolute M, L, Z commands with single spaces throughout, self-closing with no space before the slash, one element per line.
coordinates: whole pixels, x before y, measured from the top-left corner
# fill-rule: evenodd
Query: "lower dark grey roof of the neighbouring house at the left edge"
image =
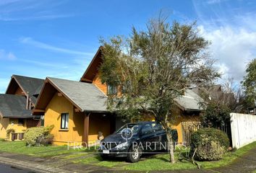
<path fill-rule="evenodd" d="M 26 99 L 24 96 L 13 94 L 0 94 L 1 117 L 32 118 L 32 110 L 25 110 Z"/>

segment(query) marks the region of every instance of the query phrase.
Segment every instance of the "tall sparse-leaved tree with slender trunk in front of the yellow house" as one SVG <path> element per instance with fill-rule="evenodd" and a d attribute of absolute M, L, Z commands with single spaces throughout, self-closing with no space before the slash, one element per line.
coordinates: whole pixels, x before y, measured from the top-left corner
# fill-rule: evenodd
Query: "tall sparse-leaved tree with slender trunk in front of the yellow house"
<path fill-rule="evenodd" d="M 133 27 L 129 37 L 102 39 L 100 77 L 119 88 L 108 96 L 108 110 L 135 120 L 147 113 L 162 123 L 174 163 L 169 125 L 175 117 L 174 99 L 191 86 L 210 85 L 219 74 L 205 53 L 209 43 L 197 34 L 195 23 L 170 25 L 166 19 L 151 19 L 145 31 Z"/>

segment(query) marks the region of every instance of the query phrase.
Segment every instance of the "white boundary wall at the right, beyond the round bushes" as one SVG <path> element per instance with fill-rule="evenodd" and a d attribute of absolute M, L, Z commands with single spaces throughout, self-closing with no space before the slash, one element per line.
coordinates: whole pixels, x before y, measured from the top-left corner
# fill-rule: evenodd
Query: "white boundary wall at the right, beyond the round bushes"
<path fill-rule="evenodd" d="M 233 147 L 241 148 L 256 141 L 256 115 L 231 113 Z"/>

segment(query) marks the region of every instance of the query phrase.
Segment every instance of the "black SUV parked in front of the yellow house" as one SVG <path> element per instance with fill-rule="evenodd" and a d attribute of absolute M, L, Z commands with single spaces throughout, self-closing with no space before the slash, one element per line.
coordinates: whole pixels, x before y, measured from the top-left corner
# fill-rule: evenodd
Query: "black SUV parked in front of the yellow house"
<path fill-rule="evenodd" d="M 142 153 L 166 150 L 166 131 L 156 122 L 128 123 L 101 141 L 100 154 L 127 157 L 129 162 L 140 160 Z"/>

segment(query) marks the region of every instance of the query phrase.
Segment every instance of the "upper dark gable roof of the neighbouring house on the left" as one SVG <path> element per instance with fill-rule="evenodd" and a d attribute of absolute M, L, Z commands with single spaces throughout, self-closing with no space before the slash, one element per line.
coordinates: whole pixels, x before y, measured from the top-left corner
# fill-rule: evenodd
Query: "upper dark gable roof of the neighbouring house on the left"
<path fill-rule="evenodd" d="M 35 104 L 37 99 L 35 95 L 39 94 L 40 89 L 43 86 L 43 81 L 43 79 L 28 76 L 12 75 L 6 94 L 15 94 L 15 88 L 20 86 L 26 96 L 28 92 L 29 97 L 31 97 L 32 102 Z"/>

